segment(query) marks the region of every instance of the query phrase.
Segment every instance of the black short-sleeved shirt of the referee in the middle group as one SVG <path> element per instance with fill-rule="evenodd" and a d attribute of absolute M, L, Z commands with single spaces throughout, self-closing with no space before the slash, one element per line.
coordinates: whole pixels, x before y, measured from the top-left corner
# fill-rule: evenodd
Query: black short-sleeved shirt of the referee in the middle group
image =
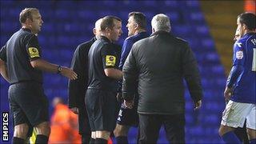
<path fill-rule="evenodd" d="M 116 92 L 118 81 L 106 77 L 104 69 L 118 69 L 120 50 L 106 37 L 101 37 L 90 47 L 88 89 L 108 90 Z"/>

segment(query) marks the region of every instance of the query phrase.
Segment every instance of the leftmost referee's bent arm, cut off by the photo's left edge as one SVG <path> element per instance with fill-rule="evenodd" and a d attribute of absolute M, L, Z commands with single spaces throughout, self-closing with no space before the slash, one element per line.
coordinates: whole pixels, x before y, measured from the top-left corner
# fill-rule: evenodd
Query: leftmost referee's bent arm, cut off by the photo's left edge
<path fill-rule="evenodd" d="M 0 50 L 0 74 L 2 75 L 2 78 L 5 78 L 7 82 L 10 82 L 6 68 L 6 46 L 2 46 L 2 49 Z"/>

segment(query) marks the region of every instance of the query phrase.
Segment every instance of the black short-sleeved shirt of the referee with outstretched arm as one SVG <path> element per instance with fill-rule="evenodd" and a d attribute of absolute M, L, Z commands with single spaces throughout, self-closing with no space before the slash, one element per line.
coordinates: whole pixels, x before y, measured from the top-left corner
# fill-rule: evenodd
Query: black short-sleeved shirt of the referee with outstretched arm
<path fill-rule="evenodd" d="M 0 58 L 6 62 L 10 84 L 22 81 L 42 83 L 42 71 L 30 64 L 40 57 L 38 37 L 31 34 L 29 29 L 18 30 L 0 50 Z"/>

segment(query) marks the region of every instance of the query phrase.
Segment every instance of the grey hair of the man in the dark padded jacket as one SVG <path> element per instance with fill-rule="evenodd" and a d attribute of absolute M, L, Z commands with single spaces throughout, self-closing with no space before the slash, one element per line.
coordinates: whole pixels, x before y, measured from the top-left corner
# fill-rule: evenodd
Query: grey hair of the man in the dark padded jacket
<path fill-rule="evenodd" d="M 155 31 L 170 32 L 170 18 L 166 14 L 157 14 L 152 18 L 151 26 Z"/>

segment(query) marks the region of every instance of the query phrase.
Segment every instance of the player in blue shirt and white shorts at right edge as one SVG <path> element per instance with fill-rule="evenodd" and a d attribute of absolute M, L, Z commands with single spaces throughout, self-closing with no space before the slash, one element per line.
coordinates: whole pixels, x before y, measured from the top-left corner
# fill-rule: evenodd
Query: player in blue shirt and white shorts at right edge
<path fill-rule="evenodd" d="M 251 13 L 238 15 L 241 38 L 234 43 L 233 67 L 226 82 L 224 97 L 229 102 L 222 113 L 219 134 L 226 143 L 239 143 L 235 128 L 246 121 L 250 143 L 256 142 L 256 16 Z"/>

